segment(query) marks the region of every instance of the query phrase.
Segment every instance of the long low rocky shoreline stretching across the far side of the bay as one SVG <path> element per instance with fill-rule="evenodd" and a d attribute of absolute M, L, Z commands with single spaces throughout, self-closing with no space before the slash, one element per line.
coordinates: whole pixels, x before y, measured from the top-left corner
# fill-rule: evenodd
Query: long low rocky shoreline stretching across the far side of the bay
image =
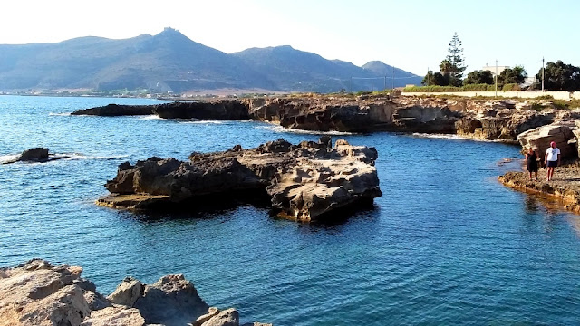
<path fill-rule="evenodd" d="M 556 121 L 580 119 L 549 100 L 478 100 L 396 96 L 302 96 L 115 105 L 73 115 L 143 115 L 163 119 L 260 120 L 285 129 L 421 132 L 516 142 L 517 135 Z"/>

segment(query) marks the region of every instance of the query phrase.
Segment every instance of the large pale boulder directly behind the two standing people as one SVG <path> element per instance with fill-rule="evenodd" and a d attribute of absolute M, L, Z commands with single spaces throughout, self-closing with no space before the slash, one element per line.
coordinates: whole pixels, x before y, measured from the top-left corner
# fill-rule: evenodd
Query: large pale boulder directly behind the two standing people
<path fill-rule="evenodd" d="M 555 141 L 556 147 L 560 149 L 562 159 L 576 158 L 578 155 L 576 129 L 575 121 L 559 121 L 522 132 L 517 136 L 517 141 L 524 151 L 529 148 L 536 149 L 537 155 L 542 160 L 552 141 Z"/>

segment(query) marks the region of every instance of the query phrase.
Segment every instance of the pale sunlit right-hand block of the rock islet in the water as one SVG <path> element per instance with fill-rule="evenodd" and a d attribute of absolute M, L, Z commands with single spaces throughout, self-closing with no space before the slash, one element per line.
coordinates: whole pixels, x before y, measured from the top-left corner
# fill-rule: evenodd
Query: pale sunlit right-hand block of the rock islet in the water
<path fill-rule="evenodd" d="M 303 143 L 303 148 L 311 146 Z M 279 169 L 275 182 L 266 187 L 272 205 L 292 219 L 310 221 L 357 201 L 381 196 L 372 165 L 377 158 L 375 149 L 353 147 L 339 139 L 333 150 L 336 157 L 343 159 L 300 159 Z"/>

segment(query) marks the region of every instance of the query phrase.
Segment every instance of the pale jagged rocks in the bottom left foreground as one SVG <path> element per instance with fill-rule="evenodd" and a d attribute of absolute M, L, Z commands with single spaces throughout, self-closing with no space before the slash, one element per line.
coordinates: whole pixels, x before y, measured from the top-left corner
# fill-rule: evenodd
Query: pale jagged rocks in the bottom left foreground
<path fill-rule="evenodd" d="M 81 267 L 40 259 L 0 268 L 0 326 L 239 325 L 235 309 L 209 308 L 183 275 L 151 285 L 126 279 L 105 298 L 81 273 Z"/>

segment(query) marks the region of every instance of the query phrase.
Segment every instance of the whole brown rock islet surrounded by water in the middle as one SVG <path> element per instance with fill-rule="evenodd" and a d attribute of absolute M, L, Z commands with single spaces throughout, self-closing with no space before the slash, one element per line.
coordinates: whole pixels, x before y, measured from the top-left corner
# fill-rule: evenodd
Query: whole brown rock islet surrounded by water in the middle
<path fill-rule="evenodd" d="M 264 194 L 282 216 L 311 221 L 343 206 L 357 206 L 380 197 L 373 148 L 352 146 L 329 137 L 318 143 L 292 145 L 284 139 L 256 149 L 239 145 L 225 152 L 175 158 L 149 158 L 119 166 L 108 181 L 113 193 L 97 201 L 117 208 L 159 208 L 214 199 L 224 203 L 232 194 Z"/>

